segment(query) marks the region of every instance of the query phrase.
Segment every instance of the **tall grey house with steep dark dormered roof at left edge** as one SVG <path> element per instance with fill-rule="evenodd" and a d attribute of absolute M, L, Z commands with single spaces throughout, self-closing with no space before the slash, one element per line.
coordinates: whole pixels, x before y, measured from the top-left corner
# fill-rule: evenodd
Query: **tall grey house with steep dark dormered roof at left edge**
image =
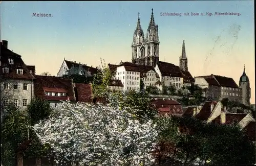
<path fill-rule="evenodd" d="M 27 105 L 34 97 L 35 77 L 33 72 L 30 72 L 30 69 L 22 60 L 22 56 L 8 49 L 8 41 L 2 40 L 1 106 L 14 103 L 15 106 L 21 109 L 27 108 Z"/>

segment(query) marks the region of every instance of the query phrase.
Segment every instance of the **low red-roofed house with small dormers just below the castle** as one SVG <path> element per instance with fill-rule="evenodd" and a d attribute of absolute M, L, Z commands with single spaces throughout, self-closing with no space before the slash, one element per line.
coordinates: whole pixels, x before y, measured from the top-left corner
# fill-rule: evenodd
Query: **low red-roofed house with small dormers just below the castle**
<path fill-rule="evenodd" d="M 181 116 L 183 114 L 181 104 L 173 99 L 154 98 L 151 104 L 158 110 L 158 113 L 162 115 Z"/>

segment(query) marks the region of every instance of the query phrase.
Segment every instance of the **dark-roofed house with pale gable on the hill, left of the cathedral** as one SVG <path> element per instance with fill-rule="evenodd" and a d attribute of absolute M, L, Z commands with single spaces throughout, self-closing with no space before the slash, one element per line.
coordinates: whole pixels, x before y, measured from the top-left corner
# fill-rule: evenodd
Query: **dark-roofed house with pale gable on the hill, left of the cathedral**
<path fill-rule="evenodd" d="M 83 76 L 93 76 L 97 74 L 99 69 L 93 66 L 88 66 L 87 64 L 76 63 L 76 61 L 68 61 L 64 58 L 59 72 L 57 74 L 58 77 L 62 77 L 63 75 L 83 75 Z"/>

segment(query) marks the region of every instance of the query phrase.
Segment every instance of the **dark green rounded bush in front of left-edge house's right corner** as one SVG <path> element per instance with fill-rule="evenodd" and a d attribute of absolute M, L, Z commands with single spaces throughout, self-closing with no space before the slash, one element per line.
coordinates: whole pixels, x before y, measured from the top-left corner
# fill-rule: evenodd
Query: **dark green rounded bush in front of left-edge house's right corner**
<path fill-rule="evenodd" d="M 52 112 L 52 108 L 50 106 L 50 102 L 34 98 L 30 102 L 30 104 L 27 107 L 29 119 L 30 119 L 30 125 L 37 124 L 40 120 L 44 120 L 49 117 L 49 115 Z"/>

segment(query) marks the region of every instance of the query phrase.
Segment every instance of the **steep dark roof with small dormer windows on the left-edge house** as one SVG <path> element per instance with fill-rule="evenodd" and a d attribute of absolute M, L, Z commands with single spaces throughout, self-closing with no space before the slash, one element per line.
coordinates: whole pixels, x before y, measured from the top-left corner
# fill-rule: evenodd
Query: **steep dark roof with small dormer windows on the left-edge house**
<path fill-rule="evenodd" d="M 9 64 L 9 58 L 13 59 L 13 64 Z M 9 68 L 9 73 L 3 73 L 3 68 Z M 17 74 L 17 69 L 23 69 L 23 74 Z M 7 49 L 1 42 L 1 75 L 3 78 L 26 79 L 32 80 L 34 76 L 30 74 L 22 56 Z"/>

